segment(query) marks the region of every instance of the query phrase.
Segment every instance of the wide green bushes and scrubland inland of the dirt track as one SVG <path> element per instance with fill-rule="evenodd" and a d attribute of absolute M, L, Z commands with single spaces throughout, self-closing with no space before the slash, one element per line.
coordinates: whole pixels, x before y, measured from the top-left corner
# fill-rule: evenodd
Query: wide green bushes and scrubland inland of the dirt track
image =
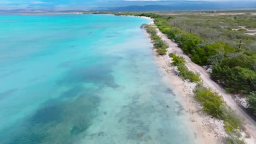
<path fill-rule="evenodd" d="M 241 31 L 223 30 L 209 16 L 204 17 L 204 21 L 198 21 L 200 17 L 185 15 L 168 19 L 162 16 L 157 17 L 155 23 L 160 31 L 182 47 L 193 62 L 213 65 L 211 76 L 223 83 L 229 92 L 249 94 L 256 91 L 256 38 Z M 221 19 L 224 19 L 223 16 Z M 174 22 L 176 27 L 173 27 Z M 193 27 L 197 31 L 192 31 Z M 205 31 L 199 31 L 199 27 L 205 28 Z M 243 43 L 237 43 L 240 40 Z"/>

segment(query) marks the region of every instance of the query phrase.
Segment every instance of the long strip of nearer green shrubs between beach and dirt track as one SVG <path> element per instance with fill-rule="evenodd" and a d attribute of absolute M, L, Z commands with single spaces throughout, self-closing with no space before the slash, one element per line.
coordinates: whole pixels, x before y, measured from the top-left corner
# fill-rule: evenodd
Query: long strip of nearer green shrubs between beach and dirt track
<path fill-rule="evenodd" d="M 177 56 L 174 53 L 170 53 L 169 56 L 172 58 L 172 65 L 178 67 L 179 74 L 183 79 L 188 79 L 190 82 L 201 81 L 199 74 L 194 74 L 188 70 L 183 57 Z M 225 143 L 243 143 L 243 141 L 238 139 L 241 136 L 239 130 L 243 129 L 243 121 L 240 117 L 236 116 L 230 107 L 225 105 L 223 98 L 218 93 L 212 92 L 210 88 L 203 87 L 201 83 L 197 84 L 193 92 L 196 100 L 202 104 L 203 111 L 224 121 L 225 130 L 230 135 L 225 137 Z"/>

